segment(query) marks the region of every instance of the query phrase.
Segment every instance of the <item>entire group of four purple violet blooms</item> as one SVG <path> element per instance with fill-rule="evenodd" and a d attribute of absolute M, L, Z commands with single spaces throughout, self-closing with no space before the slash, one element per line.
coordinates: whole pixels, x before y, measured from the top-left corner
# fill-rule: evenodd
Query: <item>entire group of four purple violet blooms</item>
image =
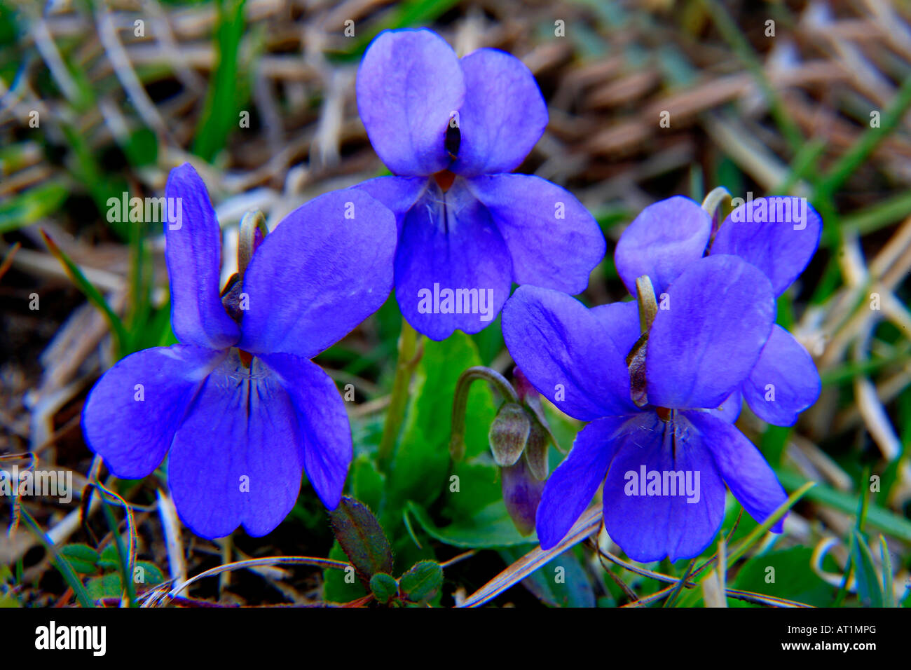
<path fill-rule="evenodd" d="M 784 490 L 733 422 L 745 401 L 790 426 L 819 395 L 812 358 L 774 324 L 776 297 L 819 243 L 818 214 L 800 199 L 758 199 L 716 230 L 689 199 L 657 202 L 615 253 L 635 299 L 589 309 L 570 294 L 604 256 L 598 223 L 568 191 L 511 173 L 548 123 L 527 67 L 488 48 L 456 57 L 429 30 L 386 31 L 356 88 L 394 176 L 293 211 L 223 291 L 205 185 L 189 165 L 172 170 L 166 197 L 182 215 L 166 225 L 167 262 L 181 344 L 127 356 L 89 394 L 83 428 L 107 468 L 142 478 L 169 455 L 180 517 L 208 538 L 239 525 L 271 531 L 292 509 L 302 471 L 333 509 L 351 428 L 311 359 L 394 286 L 404 318 L 437 340 L 477 333 L 502 310 L 521 373 L 589 422 L 543 494 L 540 481 L 523 488 L 524 470 L 509 470 L 519 479 L 507 505 L 540 497 L 545 549 L 602 484 L 606 529 L 639 561 L 704 550 L 722 524 L 725 486 L 753 519 L 767 519 Z M 520 286 L 507 301 L 512 283 Z M 530 526 L 534 510 L 523 519 Z"/>

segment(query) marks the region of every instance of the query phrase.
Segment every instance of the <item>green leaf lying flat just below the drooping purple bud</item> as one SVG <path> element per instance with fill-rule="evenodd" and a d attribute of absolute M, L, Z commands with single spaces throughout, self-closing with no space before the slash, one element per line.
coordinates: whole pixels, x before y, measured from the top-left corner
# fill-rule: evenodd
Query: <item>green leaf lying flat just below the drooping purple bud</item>
<path fill-rule="evenodd" d="M 523 536 L 516 530 L 503 500 L 492 502 L 475 516 L 455 521 L 445 528 L 438 528 L 427 511 L 415 502 L 408 503 L 407 511 L 431 537 L 454 547 L 486 549 L 537 542 L 535 533 Z"/>

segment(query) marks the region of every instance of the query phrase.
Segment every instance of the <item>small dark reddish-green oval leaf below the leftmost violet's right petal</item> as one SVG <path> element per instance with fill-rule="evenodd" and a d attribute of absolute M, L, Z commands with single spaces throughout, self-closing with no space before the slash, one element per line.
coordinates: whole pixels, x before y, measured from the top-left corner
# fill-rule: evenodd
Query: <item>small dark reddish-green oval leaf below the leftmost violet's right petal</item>
<path fill-rule="evenodd" d="M 329 512 L 335 539 L 364 582 L 376 572 L 393 572 L 393 550 L 374 513 L 359 500 L 343 496 Z"/>

